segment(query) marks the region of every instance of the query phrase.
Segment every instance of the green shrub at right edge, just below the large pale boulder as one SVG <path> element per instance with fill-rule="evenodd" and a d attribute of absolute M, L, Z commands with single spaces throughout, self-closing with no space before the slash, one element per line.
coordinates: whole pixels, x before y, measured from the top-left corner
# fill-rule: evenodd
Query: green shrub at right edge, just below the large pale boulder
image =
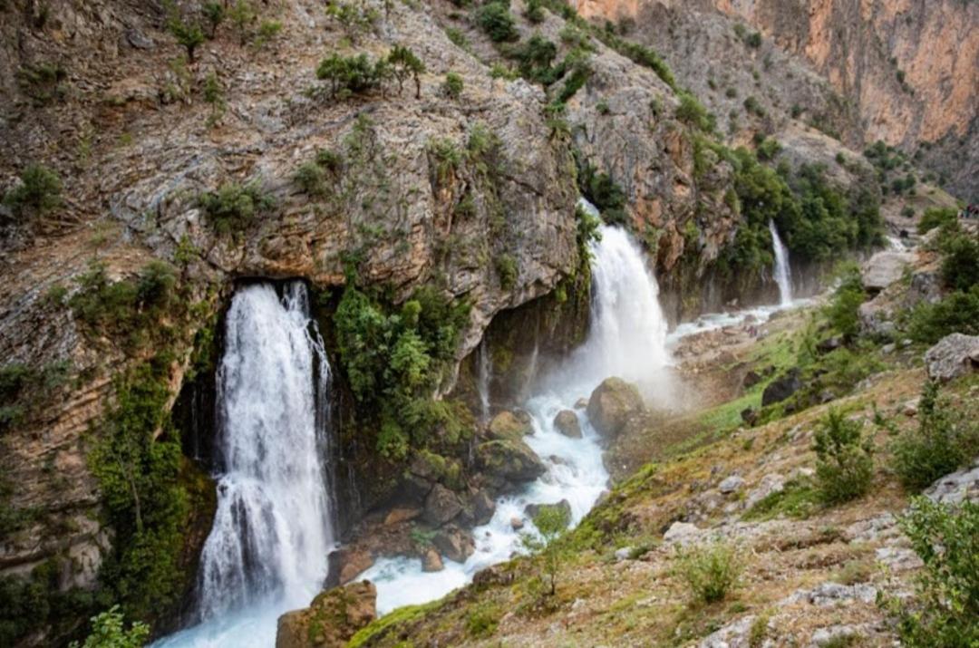
<path fill-rule="evenodd" d="M 931 486 L 955 472 L 979 451 L 979 427 L 939 397 L 935 382 L 925 383 L 918 401 L 918 428 L 894 442 L 892 467 L 911 490 Z"/>

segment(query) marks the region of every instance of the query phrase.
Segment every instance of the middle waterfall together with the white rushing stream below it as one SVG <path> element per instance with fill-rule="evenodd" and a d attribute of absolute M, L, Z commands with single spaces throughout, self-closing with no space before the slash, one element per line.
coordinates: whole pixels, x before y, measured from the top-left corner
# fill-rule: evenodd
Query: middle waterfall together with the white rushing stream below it
<path fill-rule="evenodd" d="M 426 573 L 420 559 L 382 558 L 360 574 L 358 579 L 377 586 L 379 614 L 440 598 L 481 569 L 522 551 L 521 532 L 513 529 L 511 521 L 521 519 L 523 532 L 533 532 L 524 512 L 528 504 L 565 499 L 571 505 L 572 525 L 577 525 L 607 488 L 609 476 L 598 435 L 583 410 L 574 410 L 582 439 L 560 434 L 554 417 L 563 409 L 573 409 L 579 398 L 587 397 L 609 376 L 653 385 L 669 363 L 669 354 L 659 289 L 641 250 L 622 229 L 603 225 L 599 232 L 601 240 L 592 244 L 594 292 L 588 338 L 557 370 L 536 380 L 536 394 L 524 403 L 534 428 L 525 440 L 547 472 L 520 492 L 497 499 L 489 523 L 473 530 L 476 550 L 465 563 L 446 559 L 441 572 Z"/>

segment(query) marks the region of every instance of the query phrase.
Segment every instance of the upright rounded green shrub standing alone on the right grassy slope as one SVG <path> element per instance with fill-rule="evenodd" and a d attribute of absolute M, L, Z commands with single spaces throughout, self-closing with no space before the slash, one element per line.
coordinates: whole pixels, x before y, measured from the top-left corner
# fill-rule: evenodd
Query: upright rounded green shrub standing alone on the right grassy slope
<path fill-rule="evenodd" d="M 830 409 L 819 421 L 816 450 L 816 486 L 827 504 L 862 497 L 873 479 L 873 444 L 863 438 L 862 421 L 852 421 Z"/>

